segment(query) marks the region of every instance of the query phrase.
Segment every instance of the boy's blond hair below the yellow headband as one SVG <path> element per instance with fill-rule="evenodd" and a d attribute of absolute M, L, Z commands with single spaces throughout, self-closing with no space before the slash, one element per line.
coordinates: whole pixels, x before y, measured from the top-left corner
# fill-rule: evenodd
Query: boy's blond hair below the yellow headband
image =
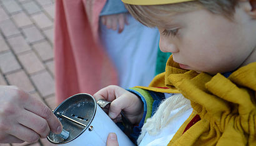
<path fill-rule="evenodd" d="M 177 4 L 164 4 L 154 6 L 139 6 L 125 4 L 130 14 L 140 23 L 148 27 L 163 27 L 167 17 L 180 12 L 195 11 L 197 9 L 207 9 L 214 14 L 220 14 L 228 19 L 232 19 L 239 0 L 197 0 L 180 2 Z"/>

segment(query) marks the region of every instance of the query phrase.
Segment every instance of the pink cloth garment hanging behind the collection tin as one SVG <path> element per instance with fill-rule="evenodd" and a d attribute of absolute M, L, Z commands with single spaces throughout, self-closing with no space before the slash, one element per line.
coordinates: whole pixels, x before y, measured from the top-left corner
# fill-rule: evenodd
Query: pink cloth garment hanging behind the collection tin
<path fill-rule="evenodd" d="M 94 94 L 104 86 L 117 84 L 114 65 L 99 43 L 99 13 L 105 2 L 56 0 L 57 104 L 73 94 Z"/>

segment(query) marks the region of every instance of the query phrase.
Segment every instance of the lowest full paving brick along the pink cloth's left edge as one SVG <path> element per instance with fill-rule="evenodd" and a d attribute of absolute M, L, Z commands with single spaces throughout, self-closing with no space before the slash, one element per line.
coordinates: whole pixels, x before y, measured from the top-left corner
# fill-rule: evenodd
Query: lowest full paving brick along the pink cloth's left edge
<path fill-rule="evenodd" d="M 42 73 L 38 73 L 37 75 L 31 75 L 31 79 L 36 85 L 37 90 L 43 97 L 54 94 L 54 80 L 47 71 L 43 71 Z"/>

